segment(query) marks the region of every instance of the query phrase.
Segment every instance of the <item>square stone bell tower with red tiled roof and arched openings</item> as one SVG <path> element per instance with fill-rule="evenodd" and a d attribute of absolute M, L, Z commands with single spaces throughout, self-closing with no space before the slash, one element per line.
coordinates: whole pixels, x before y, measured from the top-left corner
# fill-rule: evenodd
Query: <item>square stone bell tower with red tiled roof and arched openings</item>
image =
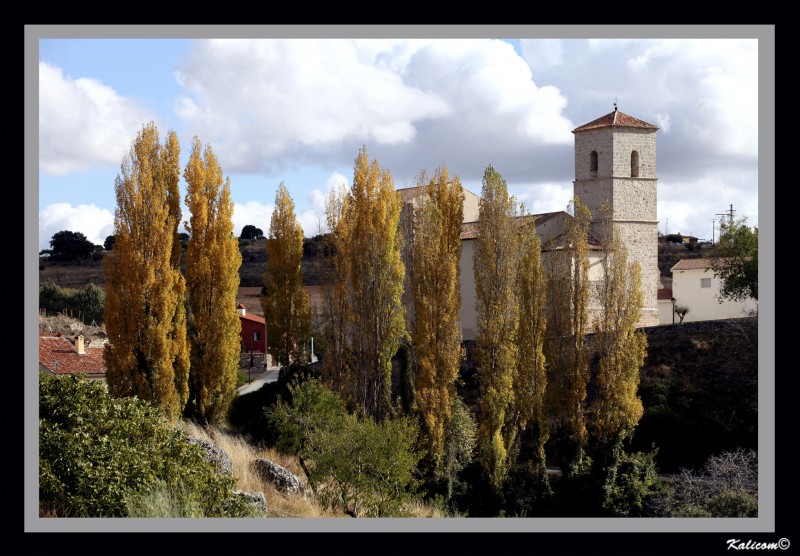
<path fill-rule="evenodd" d="M 612 220 L 638 261 L 643 308 L 640 326 L 658 324 L 658 219 L 656 131 L 658 127 L 617 110 L 572 130 L 575 135 L 573 191 L 592 213 L 592 233 L 601 241 L 600 207 L 611 203 Z"/>

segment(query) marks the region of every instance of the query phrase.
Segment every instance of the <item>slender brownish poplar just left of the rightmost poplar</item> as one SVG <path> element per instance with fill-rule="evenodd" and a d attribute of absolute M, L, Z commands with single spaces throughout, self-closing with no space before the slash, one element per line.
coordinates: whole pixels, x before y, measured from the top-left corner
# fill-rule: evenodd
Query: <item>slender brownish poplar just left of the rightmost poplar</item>
<path fill-rule="evenodd" d="M 565 476 L 584 462 L 586 384 L 589 379 L 586 333 L 589 319 L 589 241 L 591 214 L 579 199 L 566 221 L 564 243 L 546 258 L 548 362 L 546 405 L 553 443 Z"/>

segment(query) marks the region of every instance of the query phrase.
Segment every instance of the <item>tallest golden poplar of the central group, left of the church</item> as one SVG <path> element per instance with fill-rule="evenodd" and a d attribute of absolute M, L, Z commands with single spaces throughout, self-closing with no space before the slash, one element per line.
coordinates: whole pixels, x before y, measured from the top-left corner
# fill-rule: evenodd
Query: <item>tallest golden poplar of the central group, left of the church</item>
<path fill-rule="evenodd" d="M 400 256 L 400 199 L 392 175 L 369 162 L 366 147 L 355 159 L 344 207 L 348 241 L 342 246 L 353 319 L 355 395 L 376 420 L 391 405 L 392 356 L 406 336 L 402 306 L 405 269 Z"/>

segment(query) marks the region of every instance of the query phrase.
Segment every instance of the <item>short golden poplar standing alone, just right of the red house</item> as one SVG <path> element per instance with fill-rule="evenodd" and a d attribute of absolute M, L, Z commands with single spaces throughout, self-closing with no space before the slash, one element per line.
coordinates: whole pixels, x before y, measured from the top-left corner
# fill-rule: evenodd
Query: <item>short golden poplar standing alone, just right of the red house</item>
<path fill-rule="evenodd" d="M 267 321 L 271 351 L 282 365 L 300 361 L 311 329 L 308 292 L 303 287 L 303 228 L 294 213 L 294 201 L 281 182 L 267 238 L 267 294 L 261 307 Z"/>

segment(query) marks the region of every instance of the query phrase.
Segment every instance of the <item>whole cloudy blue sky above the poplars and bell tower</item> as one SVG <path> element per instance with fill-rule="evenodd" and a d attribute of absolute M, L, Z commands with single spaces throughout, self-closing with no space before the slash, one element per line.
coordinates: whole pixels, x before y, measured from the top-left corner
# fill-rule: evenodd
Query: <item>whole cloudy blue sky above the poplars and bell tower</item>
<path fill-rule="evenodd" d="M 446 164 L 479 194 L 491 164 L 532 212 L 564 210 L 571 131 L 611 112 L 615 98 L 660 128 L 659 230 L 710 239 L 730 205 L 758 224 L 758 47 L 753 38 L 41 39 L 39 249 L 60 230 L 98 244 L 113 233 L 114 179 L 151 120 L 162 138 L 178 133 L 182 165 L 194 136 L 211 146 L 231 179 L 237 233 L 268 230 L 283 181 L 311 236 L 362 146 L 397 188 Z"/>

